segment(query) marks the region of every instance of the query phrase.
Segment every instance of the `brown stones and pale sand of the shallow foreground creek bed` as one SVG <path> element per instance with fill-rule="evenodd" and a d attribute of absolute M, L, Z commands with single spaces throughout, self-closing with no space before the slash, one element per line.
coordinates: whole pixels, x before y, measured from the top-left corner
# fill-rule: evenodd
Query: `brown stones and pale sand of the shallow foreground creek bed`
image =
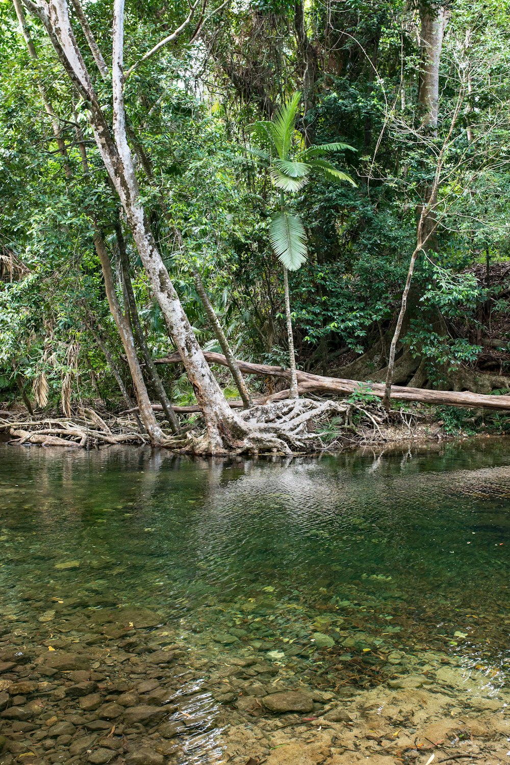
<path fill-rule="evenodd" d="M 223 636 L 211 659 L 150 610 L 49 617 L 38 641 L 2 628 L 0 765 L 508 762 L 510 692 L 486 666 L 393 650 L 380 684 L 328 688 L 331 646 L 314 668 Z"/>

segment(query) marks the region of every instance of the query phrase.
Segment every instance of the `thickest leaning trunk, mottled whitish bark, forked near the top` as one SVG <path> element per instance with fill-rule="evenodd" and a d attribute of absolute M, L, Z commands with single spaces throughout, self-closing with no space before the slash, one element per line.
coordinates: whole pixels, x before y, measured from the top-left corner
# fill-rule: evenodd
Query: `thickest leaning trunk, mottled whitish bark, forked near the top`
<path fill-rule="evenodd" d="M 67 0 L 53 0 L 50 7 L 45 0 L 23 0 L 25 7 L 44 24 L 64 70 L 76 90 L 89 105 L 89 124 L 96 145 L 122 207 L 128 226 L 138 249 L 141 262 L 160 304 L 168 330 L 183 360 L 187 376 L 197 396 L 198 405 L 206 422 L 208 441 L 206 451 L 223 451 L 246 428 L 233 415 L 223 392 L 214 379 L 203 356 L 193 328 L 175 291 L 167 268 L 154 240 L 148 216 L 145 213 L 135 175 L 132 153 L 128 145 L 124 108 L 124 0 L 115 0 L 113 20 L 113 136 L 110 132 L 92 80 L 70 24 Z"/>

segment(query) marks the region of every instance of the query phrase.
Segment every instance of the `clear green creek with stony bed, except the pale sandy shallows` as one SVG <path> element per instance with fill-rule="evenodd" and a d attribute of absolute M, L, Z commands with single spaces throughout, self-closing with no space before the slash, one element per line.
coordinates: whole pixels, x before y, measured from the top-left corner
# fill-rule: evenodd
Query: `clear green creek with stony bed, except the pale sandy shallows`
<path fill-rule="evenodd" d="M 245 765 L 266 719 L 441 666 L 506 692 L 503 439 L 292 461 L 0 444 L 0 496 L 5 765 Z M 292 692 L 309 708 L 263 703 Z"/>

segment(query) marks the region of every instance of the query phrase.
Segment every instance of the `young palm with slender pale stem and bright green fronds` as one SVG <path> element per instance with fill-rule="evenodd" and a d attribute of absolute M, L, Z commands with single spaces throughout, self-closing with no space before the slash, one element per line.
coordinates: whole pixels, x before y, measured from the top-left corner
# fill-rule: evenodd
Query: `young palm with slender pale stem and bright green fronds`
<path fill-rule="evenodd" d="M 255 138 L 257 146 L 243 148 L 259 166 L 268 169 L 271 182 L 279 192 L 279 210 L 271 217 L 269 239 L 284 269 L 285 316 L 291 368 L 289 398 L 291 399 L 297 399 L 298 394 L 288 272 L 297 271 L 303 265 L 308 256 L 308 249 L 303 222 L 292 209 L 288 194 L 300 191 L 313 173 L 319 173 L 334 181 L 347 181 L 352 186 L 356 186 L 350 175 L 323 158 L 332 151 L 344 149 L 356 151 L 352 146 L 336 142 L 304 148 L 303 138 L 296 131 L 300 99 L 301 93 L 297 91 L 287 103 L 278 108 L 272 119 L 249 125 L 249 132 Z"/>

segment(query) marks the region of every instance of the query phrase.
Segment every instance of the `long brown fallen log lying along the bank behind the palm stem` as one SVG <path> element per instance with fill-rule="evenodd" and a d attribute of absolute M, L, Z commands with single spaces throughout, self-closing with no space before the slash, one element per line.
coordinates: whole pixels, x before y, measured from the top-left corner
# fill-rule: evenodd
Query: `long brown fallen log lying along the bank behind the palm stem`
<path fill-rule="evenodd" d="M 204 351 L 206 360 L 212 364 L 221 364 L 227 366 L 225 356 L 222 353 L 213 353 L 213 351 Z M 157 364 L 177 364 L 180 363 L 178 353 L 172 353 L 171 356 L 165 356 L 163 359 L 155 360 Z M 239 369 L 244 374 L 261 375 L 265 377 L 281 377 L 291 379 L 291 373 L 288 369 L 282 369 L 281 366 L 269 366 L 268 364 L 253 364 L 248 361 L 238 361 Z M 300 393 L 331 393 L 336 396 L 349 396 L 351 393 L 360 389 L 371 396 L 377 396 L 382 399 L 385 395 L 385 386 L 382 382 L 360 382 L 359 380 L 343 379 L 341 377 L 323 377 L 313 375 L 309 372 L 297 370 L 297 383 Z M 270 396 L 267 401 L 284 399 L 288 391 L 281 391 L 274 396 Z M 488 396 L 482 393 L 472 393 L 470 391 L 453 390 L 427 390 L 424 388 L 406 388 L 405 386 L 392 386 L 391 399 L 395 401 L 421 402 L 423 404 L 432 404 L 436 406 L 460 406 L 467 409 L 499 409 L 499 411 L 510 411 L 510 396 Z M 233 403 L 233 402 L 232 402 Z M 178 411 L 178 409 L 176 409 Z M 196 410 L 194 410 L 196 411 Z"/>

